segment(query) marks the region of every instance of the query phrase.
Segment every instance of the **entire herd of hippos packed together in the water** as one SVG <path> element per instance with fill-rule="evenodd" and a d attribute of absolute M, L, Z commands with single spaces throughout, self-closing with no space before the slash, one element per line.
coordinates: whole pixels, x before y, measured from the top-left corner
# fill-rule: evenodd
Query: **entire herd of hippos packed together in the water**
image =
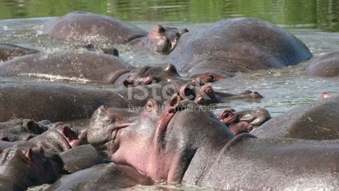
<path fill-rule="evenodd" d="M 45 190 L 112 190 L 159 182 L 218 190 L 339 189 L 338 96 L 323 93 L 322 100 L 272 119 L 264 108 L 227 108 L 218 116 L 206 110 L 210 103 L 263 98 L 214 91 L 214 81 L 311 59 L 307 46 L 283 28 L 230 18 L 194 33 L 162 25 L 147 33 L 76 11 L 44 23 L 42 33 L 83 45 L 47 54 L 0 44 L 0 77 L 59 76 L 117 88 L 1 82 L 0 190 L 44 184 Z M 105 45 L 167 56 L 158 66 L 136 68 Z M 305 71 L 338 77 L 339 52 L 312 59 Z M 154 90 L 157 98 L 142 96 Z M 81 118 L 90 125 L 64 123 Z"/>

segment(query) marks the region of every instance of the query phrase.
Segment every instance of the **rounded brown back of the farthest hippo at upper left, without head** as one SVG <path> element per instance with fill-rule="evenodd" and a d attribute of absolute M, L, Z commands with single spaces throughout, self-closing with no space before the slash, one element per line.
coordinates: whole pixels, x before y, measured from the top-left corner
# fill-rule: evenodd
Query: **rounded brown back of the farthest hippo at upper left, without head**
<path fill-rule="evenodd" d="M 76 11 L 45 23 L 42 33 L 64 40 L 95 44 L 124 44 L 147 32 L 135 25 L 100 14 Z"/>

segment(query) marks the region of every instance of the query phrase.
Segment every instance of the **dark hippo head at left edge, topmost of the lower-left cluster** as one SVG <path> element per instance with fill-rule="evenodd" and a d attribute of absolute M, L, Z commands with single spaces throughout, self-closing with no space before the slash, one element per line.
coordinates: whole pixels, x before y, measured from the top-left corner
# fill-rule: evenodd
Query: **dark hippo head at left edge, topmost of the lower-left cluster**
<path fill-rule="evenodd" d="M 13 119 L 0 122 L 0 140 L 27 141 L 32 138 L 32 134 L 42 134 L 47 130 L 46 120 L 35 122 L 28 119 Z"/>

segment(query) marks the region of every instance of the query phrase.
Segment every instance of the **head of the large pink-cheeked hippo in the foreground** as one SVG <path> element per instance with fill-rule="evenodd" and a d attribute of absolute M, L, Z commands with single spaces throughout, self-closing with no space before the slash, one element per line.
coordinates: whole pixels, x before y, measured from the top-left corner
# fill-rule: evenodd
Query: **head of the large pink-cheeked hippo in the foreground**
<path fill-rule="evenodd" d="M 179 96 L 148 100 L 141 110 L 100 106 L 88 128 L 88 142 L 104 157 L 170 183 L 182 180 L 197 149 L 220 149 L 232 137 L 212 112 Z"/>

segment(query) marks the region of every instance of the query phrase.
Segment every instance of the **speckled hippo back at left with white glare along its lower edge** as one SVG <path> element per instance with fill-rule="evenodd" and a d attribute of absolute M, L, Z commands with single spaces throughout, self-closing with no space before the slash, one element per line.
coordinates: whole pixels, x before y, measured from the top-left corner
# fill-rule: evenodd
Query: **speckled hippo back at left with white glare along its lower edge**
<path fill-rule="evenodd" d="M 114 83 L 134 66 L 118 57 L 90 51 L 39 53 L 0 65 L 0 76 L 32 76 L 81 82 Z"/>

